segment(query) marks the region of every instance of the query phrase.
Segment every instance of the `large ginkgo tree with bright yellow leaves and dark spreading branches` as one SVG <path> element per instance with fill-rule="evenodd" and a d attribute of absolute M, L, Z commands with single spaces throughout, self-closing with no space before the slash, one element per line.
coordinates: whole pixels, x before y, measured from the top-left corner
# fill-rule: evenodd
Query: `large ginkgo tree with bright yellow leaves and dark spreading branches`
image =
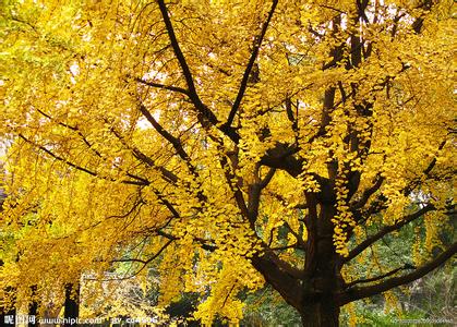
<path fill-rule="evenodd" d="M 444 264 L 454 14 L 447 0 L 3 1 L 2 299 L 130 263 L 157 268 L 159 305 L 200 292 L 204 325 L 237 324 L 238 294 L 266 282 L 303 326 L 337 326 L 341 306 Z M 406 226 L 413 262 L 380 264 Z"/>

